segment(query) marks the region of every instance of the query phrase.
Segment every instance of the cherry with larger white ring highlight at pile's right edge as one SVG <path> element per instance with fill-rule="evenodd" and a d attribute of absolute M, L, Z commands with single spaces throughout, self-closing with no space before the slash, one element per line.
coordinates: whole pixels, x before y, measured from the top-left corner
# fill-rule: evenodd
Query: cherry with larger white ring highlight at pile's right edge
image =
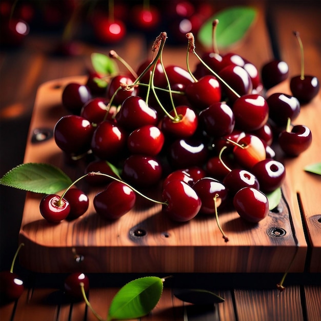
<path fill-rule="evenodd" d="M 251 171 L 258 179 L 260 190 L 267 193 L 282 185 L 286 173 L 284 165 L 271 158 L 260 160 Z"/>

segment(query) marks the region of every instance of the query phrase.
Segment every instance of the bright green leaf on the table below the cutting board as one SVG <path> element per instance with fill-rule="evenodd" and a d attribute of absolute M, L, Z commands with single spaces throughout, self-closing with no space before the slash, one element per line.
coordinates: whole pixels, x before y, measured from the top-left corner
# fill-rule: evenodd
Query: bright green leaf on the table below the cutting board
<path fill-rule="evenodd" d="M 108 320 L 134 319 L 148 314 L 163 293 L 163 279 L 156 276 L 137 278 L 113 297 Z"/>

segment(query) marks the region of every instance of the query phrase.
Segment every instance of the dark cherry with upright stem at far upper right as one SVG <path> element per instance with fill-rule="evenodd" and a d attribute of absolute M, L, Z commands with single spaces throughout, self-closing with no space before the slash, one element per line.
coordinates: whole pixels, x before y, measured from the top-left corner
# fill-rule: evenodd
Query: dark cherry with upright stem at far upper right
<path fill-rule="evenodd" d="M 298 32 L 294 31 L 294 35 L 300 46 L 301 51 L 301 73 L 290 79 L 290 90 L 294 97 L 301 103 L 309 103 L 319 92 L 320 84 L 318 78 L 304 74 L 304 51 L 303 44 Z"/>

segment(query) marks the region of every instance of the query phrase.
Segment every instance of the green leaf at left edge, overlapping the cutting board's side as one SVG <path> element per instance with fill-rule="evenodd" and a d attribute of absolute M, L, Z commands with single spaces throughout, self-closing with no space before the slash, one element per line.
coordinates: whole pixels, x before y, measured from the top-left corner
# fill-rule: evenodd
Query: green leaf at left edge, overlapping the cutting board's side
<path fill-rule="evenodd" d="M 42 163 L 21 164 L 0 178 L 0 184 L 34 193 L 52 194 L 72 184 L 59 168 Z"/>

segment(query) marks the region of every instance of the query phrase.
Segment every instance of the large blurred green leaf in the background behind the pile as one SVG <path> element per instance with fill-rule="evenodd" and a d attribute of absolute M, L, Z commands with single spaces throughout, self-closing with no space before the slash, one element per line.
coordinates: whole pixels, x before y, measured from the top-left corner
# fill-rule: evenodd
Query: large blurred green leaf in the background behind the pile
<path fill-rule="evenodd" d="M 247 6 L 224 9 L 208 19 L 197 33 L 197 39 L 204 47 L 212 47 L 212 23 L 216 26 L 216 43 L 219 48 L 227 48 L 242 39 L 255 20 L 257 10 Z"/>

